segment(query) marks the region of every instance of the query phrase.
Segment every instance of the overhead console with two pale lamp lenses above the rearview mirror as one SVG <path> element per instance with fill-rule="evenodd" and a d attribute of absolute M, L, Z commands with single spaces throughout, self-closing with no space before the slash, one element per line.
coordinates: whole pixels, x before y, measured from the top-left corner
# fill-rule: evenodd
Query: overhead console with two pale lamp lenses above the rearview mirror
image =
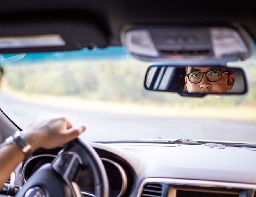
<path fill-rule="evenodd" d="M 121 32 L 127 51 L 152 62 L 198 64 L 246 60 L 254 43 L 248 32 L 236 25 L 127 25 Z"/>

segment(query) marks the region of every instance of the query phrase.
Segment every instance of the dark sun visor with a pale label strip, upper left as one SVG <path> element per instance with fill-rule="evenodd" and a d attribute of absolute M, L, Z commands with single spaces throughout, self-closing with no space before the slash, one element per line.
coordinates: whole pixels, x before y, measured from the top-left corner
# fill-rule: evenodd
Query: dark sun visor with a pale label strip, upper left
<path fill-rule="evenodd" d="M 105 48 L 109 36 L 103 25 L 85 15 L 50 14 L 1 17 L 0 53 L 51 52 Z"/>

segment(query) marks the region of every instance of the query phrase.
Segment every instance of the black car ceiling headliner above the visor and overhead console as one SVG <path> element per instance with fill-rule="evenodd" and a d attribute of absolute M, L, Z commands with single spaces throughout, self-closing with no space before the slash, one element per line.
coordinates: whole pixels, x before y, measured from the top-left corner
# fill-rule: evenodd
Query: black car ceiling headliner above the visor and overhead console
<path fill-rule="evenodd" d="M 76 19 L 80 15 L 90 18 L 102 28 L 109 45 L 121 45 L 120 30 L 128 24 L 239 24 L 256 40 L 255 9 L 250 3 L 240 1 L 1 1 L 0 15 L 4 19 L 1 22 L 0 36 L 6 34 L 3 25 L 8 19 L 20 19 L 18 26 L 21 27 L 28 20 L 38 23 L 38 20 L 51 20 L 56 16 Z M 26 20 L 22 20 L 24 16 Z M 9 29 L 8 32 L 12 31 Z"/>

